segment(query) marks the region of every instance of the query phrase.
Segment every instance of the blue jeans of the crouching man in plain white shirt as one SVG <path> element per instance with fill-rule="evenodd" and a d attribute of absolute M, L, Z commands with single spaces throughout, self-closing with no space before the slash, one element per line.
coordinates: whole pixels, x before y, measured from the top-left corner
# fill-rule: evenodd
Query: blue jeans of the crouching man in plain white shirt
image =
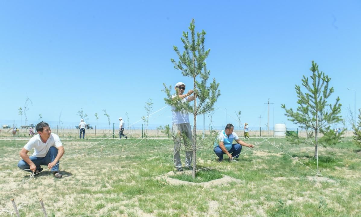
<path fill-rule="evenodd" d="M 56 158 L 56 155 L 58 154 L 58 149 L 54 146 L 50 147 L 48 153 L 45 155 L 45 157 L 35 157 L 30 156 L 30 160 L 36 165 L 36 170 L 40 169 L 40 165 L 48 165 L 49 163 L 53 162 Z M 53 168 L 51 168 L 50 171 L 59 171 L 59 161 L 56 162 L 57 165 L 55 165 Z M 30 170 L 30 165 L 25 162 L 25 160 L 20 160 L 18 163 L 18 167 L 20 169 L 26 169 L 27 172 L 32 172 Z"/>

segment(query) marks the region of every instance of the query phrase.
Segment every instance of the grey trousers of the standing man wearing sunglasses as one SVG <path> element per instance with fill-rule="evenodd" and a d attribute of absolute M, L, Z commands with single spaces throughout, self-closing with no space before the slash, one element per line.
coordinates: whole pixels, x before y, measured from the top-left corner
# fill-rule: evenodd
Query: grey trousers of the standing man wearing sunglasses
<path fill-rule="evenodd" d="M 179 155 L 179 151 L 182 148 L 182 140 L 183 140 L 183 149 L 186 150 L 186 163 L 185 166 L 189 167 L 192 163 L 193 150 L 192 149 L 192 130 L 191 125 L 189 123 L 185 124 L 173 124 L 172 133 L 176 139 L 173 138 L 174 141 L 174 150 L 173 150 L 173 160 L 175 168 L 181 168 L 181 156 Z"/>

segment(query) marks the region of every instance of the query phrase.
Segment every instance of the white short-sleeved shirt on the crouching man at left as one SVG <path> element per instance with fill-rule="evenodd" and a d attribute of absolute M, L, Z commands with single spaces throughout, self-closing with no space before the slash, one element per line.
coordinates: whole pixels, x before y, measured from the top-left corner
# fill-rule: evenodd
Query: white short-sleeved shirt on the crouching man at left
<path fill-rule="evenodd" d="M 24 149 L 31 151 L 34 148 L 34 153 L 31 156 L 43 158 L 46 156 L 51 146 L 58 148 L 62 145 L 63 144 L 61 143 L 60 138 L 55 133 L 51 133 L 46 143 L 42 141 L 40 135 L 38 134 L 33 136 L 29 142 L 26 143 Z"/>

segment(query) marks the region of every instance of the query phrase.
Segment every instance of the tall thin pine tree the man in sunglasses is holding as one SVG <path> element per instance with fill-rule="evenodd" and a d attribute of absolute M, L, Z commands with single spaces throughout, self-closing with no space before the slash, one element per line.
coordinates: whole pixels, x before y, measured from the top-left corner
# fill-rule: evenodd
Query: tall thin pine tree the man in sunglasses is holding
<path fill-rule="evenodd" d="M 202 30 L 201 32 L 197 32 L 197 35 L 195 35 L 194 23 L 194 19 L 192 19 L 189 27 L 190 35 L 188 32 L 183 32 L 183 37 L 181 38 L 182 43 L 184 44 L 183 54 L 178 50 L 177 46 L 173 46 L 175 53 L 178 55 L 179 61 L 176 62 L 174 59 L 171 59 L 175 69 L 180 70 L 183 76 L 190 77 L 193 80 L 193 108 L 190 106 L 190 103 L 176 103 L 180 100 L 178 94 L 176 97 L 172 98 L 170 94 L 171 86 L 167 88 L 166 84 L 164 84 L 164 92 L 167 94 L 165 102 L 168 105 L 176 107 L 178 111 L 185 110 L 193 113 L 194 115 L 192 135 L 193 178 L 195 178 L 196 175 L 196 151 L 197 149 L 204 147 L 203 143 L 200 143 L 197 146 L 197 115 L 201 115 L 210 110 L 213 110 L 213 105 L 221 94 L 218 90 L 219 83 L 216 83 L 215 79 L 213 79 L 213 82 L 210 83 L 210 86 L 207 86 L 210 71 L 206 68 L 205 59 L 208 57 L 210 49 L 206 50 L 204 47 L 206 32 Z"/>

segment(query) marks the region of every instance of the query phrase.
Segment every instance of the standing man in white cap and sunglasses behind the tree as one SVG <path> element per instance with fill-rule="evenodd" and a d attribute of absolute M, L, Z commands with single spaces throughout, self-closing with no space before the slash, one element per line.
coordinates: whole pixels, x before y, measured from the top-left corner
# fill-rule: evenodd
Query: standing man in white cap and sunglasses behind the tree
<path fill-rule="evenodd" d="M 187 94 L 184 94 L 184 90 L 186 89 L 186 85 L 182 82 L 178 82 L 175 84 L 175 92 L 181 98 L 181 102 L 191 102 L 194 100 L 194 95 L 190 96 L 194 91 L 189 90 Z M 172 98 L 176 97 L 173 95 Z M 174 160 L 174 167 L 177 169 L 178 172 L 183 171 L 181 157 L 179 155 L 179 150 L 181 149 L 181 140 L 183 138 L 184 141 L 184 149 L 186 149 L 186 162 L 185 168 L 192 170 L 192 149 L 191 144 L 193 142 L 192 138 L 192 130 L 191 125 L 189 124 L 189 116 L 187 111 L 177 111 L 174 106 L 172 106 L 172 133 L 177 138 L 173 138 L 174 141 L 174 150 L 173 150 L 173 160 Z"/>

